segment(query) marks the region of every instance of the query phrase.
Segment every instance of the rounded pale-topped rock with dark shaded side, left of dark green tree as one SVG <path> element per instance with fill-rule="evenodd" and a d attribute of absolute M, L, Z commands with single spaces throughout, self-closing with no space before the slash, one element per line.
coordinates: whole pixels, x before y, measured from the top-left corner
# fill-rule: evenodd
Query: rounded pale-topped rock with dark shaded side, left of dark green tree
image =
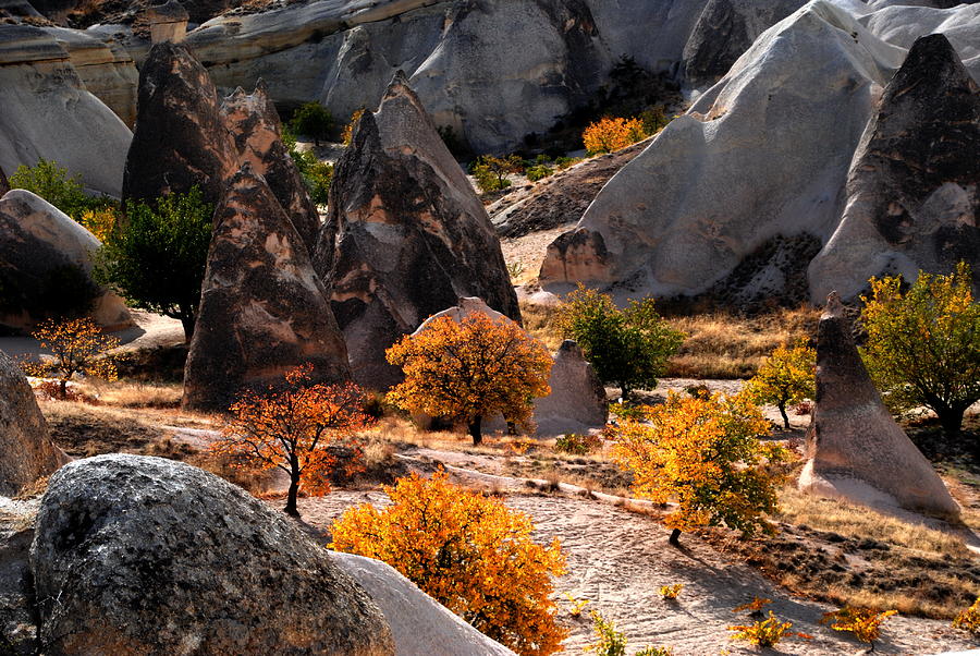
<path fill-rule="evenodd" d="M 91 279 L 100 246 L 42 198 L 8 192 L 0 198 L 0 324 L 25 329 L 50 315 L 85 312 L 110 330 L 132 326 L 122 300 Z"/>

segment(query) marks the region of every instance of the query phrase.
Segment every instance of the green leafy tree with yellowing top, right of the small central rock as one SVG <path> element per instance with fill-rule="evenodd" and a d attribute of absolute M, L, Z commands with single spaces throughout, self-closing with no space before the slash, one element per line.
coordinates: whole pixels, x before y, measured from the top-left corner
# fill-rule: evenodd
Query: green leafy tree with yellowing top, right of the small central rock
<path fill-rule="evenodd" d="M 579 283 L 562 305 L 559 325 L 574 339 L 599 378 L 620 387 L 623 398 L 636 388 L 652 389 L 685 335 L 657 314 L 652 297 L 620 309 L 609 294 Z"/>

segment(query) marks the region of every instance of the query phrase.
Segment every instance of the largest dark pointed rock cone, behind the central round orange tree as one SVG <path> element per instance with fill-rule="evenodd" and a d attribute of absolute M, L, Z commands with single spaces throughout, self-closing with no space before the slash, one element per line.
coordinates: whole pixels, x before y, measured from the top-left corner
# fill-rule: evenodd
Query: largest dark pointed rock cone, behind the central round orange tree
<path fill-rule="evenodd" d="M 401 76 L 362 117 L 329 205 L 315 264 L 360 385 L 396 384 L 385 349 L 461 296 L 519 320 L 487 211 Z"/>

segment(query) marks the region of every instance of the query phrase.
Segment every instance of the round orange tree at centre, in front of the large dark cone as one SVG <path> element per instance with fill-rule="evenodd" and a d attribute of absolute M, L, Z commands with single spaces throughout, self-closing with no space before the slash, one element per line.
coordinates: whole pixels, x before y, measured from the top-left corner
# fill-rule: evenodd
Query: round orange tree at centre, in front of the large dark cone
<path fill-rule="evenodd" d="M 388 398 L 403 410 L 465 422 L 474 445 L 482 441 L 486 416 L 503 414 L 530 429 L 535 397 L 551 392 L 548 349 L 517 324 L 483 313 L 439 317 L 387 356 L 405 373 Z"/>

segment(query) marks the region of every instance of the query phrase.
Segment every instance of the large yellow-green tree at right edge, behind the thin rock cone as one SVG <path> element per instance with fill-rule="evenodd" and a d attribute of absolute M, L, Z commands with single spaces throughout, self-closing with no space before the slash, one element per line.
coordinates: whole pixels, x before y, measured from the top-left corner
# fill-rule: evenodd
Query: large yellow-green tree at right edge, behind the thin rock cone
<path fill-rule="evenodd" d="M 890 406 L 924 405 L 955 436 L 966 410 L 980 400 L 980 303 L 970 267 L 948 276 L 919 271 L 907 290 L 902 279 L 870 280 L 861 296 L 868 341 L 861 356 Z"/>

